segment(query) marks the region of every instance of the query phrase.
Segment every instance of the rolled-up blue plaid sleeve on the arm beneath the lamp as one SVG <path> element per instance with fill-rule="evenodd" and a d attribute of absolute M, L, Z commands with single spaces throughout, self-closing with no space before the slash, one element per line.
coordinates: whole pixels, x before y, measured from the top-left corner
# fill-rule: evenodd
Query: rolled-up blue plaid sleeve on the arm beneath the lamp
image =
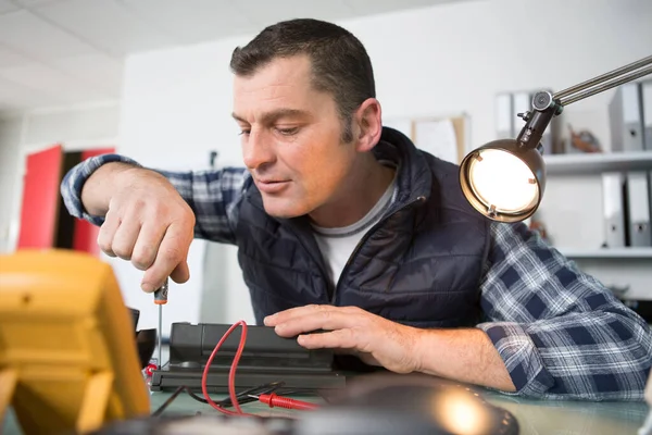
<path fill-rule="evenodd" d="M 643 399 L 649 325 L 523 223 L 492 224 L 481 306 L 515 395 Z"/>

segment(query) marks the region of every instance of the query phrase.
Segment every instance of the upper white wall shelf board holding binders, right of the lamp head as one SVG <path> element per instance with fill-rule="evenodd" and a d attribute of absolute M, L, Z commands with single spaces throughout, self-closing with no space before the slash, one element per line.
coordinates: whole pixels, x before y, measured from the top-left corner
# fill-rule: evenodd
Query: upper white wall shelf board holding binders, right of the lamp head
<path fill-rule="evenodd" d="M 599 175 L 652 170 L 652 151 L 544 156 L 548 175 Z"/>

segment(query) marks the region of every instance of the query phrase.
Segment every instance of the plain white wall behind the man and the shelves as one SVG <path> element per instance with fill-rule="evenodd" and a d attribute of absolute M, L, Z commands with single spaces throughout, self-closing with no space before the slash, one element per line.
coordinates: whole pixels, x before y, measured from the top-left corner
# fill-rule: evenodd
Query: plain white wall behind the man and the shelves
<path fill-rule="evenodd" d="M 496 94 L 561 90 L 649 55 L 650 23 L 650 1 L 492 0 L 341 24 L 369 52 L 387 119 L 465 112 L 472 123 L 471 146 L 476 147 L 494 138 Z M 251 36 L 130 57 L 125 67 L 120 151 L 143 164 L 173 164 L 186 157 L 201 161 L 208 150 L 217 148 L 221 164 L 239 164 L 237 128 L 229 116 L 228 62 L 233 49 Z M 611 95 L 577 102 L 565 114 L 580 123 L 574 127 L 591 127 L 606 144 Z M 542 207 L 553 237 L 560 245 L 594 246 L 602 237 L 602 224 L 599 216 L 587 213 L 599 209 L 600 199 L 588 198 L 590 207 L 584 208 L 560 186 L 550 182 Z M 599 195 L 595 184 L 586 179 L 570 179 L 569 186 Z M 549 204 L 569 207 L 579 214 L 573 217 L 575 223 L 561 225 L 554 213 L 547 212 Z M 576 231 L 576 225 L 587 232 Z M 213 299 L 204 300 L 204 307 L 226 308 L 222 311 L 226 316 L 216 314 L 218 321 L 250 321 L 249 296 L 235 250 L 214 249 L 223 253 L 212 270 L 221 276 L 220 283 L 213 282 L 221 294 L 211 294 Z"/>

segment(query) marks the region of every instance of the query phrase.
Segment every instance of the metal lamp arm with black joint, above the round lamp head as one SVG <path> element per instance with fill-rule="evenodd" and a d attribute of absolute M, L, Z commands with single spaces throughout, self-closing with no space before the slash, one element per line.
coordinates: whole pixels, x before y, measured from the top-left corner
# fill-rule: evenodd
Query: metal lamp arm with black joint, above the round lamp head
<path fill-rule="evenodd" d="M 548 91 L 535 94 L 531 102 L 532 111 L 518 114 L 518 116 L 526 121 L 516 137 L 518 147 L 539 148 L 546 128 L 548 128 L 554 116 L 562 113 L 564 107 L 648 74 L 652 74 L 652 55 L 610 71 L 554 95 Z"/>

